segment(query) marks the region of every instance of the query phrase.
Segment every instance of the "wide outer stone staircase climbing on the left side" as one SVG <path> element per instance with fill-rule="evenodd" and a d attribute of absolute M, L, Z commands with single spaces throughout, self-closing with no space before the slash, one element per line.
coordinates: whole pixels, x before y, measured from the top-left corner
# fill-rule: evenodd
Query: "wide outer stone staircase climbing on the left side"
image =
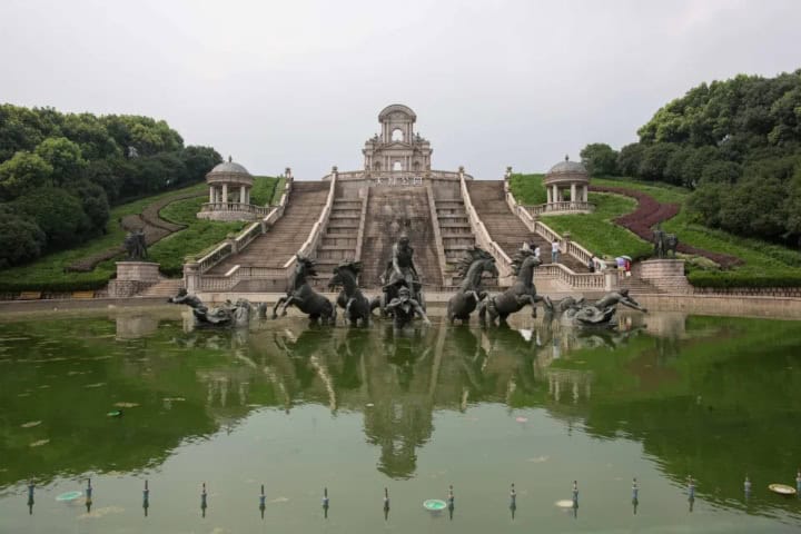
<path fill-rule="evenodd" d="M 289 202 L 276 224 L 239 254 L 229 256 L 207 274 L 225 275 L 236 265 L 283 267 L 308 238 L 325 207 L 329 188 L 327 181 L 294 181 Z"/>

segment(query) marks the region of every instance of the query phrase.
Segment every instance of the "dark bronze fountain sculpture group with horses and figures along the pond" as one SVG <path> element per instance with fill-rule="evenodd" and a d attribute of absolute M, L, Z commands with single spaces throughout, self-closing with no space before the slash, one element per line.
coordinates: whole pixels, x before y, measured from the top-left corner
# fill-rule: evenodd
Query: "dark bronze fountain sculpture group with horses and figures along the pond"
<path fill-rule="evenodd" d="M 369 326 L 373 310 L 378 308 L 379 315 L 392 318 L 396 328 L 412 324 L 416 317 L 425 324 L 431 324 L 426 316 L 423 281 L 417 274 L 414 249 L 409 246 L 408 238 L 400 236 L 392 250 L 392 258 L 380 277 L 384 284 L 382 294 L 372 300 L 358 286 L 360 261 L 344 260 L 335 267 L 334 277 L 328 285 L 329 288 L 342 287 L 335 303 L 312 287 L 310 279 L 317 276 L 315 261 L 297 255 L 289 288 L 287 294 L 275 304 L 273 318 L 286 315 L 286 308 L 295 306 L 308 315 L 313 323 L 334 325 L 339 307 L 343 309 L 346 324 Z M 505 291 L 490 296 L 483 287 L 483 278 L 485 274 L 492 277 L 498 276 L 495 258 L 479 247 L 468 249 L 458 264 L 462 283 L 448 300 L 447 320 L 454 324 L 458 319 L 462 324 L 466 324 L 471 314 L 477 310 L 482 326 L 496 325 L 497 322 L 505 323 L 511 314 L 520 312 L 527 305 L 532 307 L 532 317 L 536 317 L 537 303 L 543 303 L 546 319 L 558 320 L 562 326 L 611 328 L 614 326 L 613 318 L 619 304 L 643 313 L 647 312 L 629 295 L 627 289 L 607 293 L 596 301 L 589 301 L 584 297 L 580 299 L 566 297 L 554 304 L 547 296 L 536 293 L 534 271 L 541 264 L 540 257 L 533 250 L 521 248 L 512 260 L 512 273 L 516 277 L 514 284 Z M 265 318 L 267 315 L 265 304 L 254 306 L 245 299 L 236 303 L 226 301 L 209 309 L 197 296 L 188 295 L 185 289 L 169 301 L 192 308 L 196 323 L 201 326 L 247 326 L 253 315 Z"/>

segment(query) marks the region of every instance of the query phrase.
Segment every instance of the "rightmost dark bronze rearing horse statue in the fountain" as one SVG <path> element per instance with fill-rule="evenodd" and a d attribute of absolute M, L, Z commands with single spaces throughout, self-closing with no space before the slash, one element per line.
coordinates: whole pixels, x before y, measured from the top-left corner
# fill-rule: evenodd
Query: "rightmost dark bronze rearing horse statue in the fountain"
<path fill-rule="evenodd" d="M 527 304 L 532 306 L 532 317 L 536 317 L 536 303 L 545 300 L 537 296 L 534 286 L 534 268 L 542 264 L 542 260 L 534 256 L 531 249 L 521 248 L 512 259 L 512 273 L 517 280 L 501 295 L 487 297 L 478 306 L 478 318 L 482 325 L 486 325 L 486 315 L 490 314 L 490 323 L 495 324 L 495 318 L 501 317 L 505 323 L 506 317 L 520 312 Z M 546 300 L 547 301 L 547 300 Z"/>

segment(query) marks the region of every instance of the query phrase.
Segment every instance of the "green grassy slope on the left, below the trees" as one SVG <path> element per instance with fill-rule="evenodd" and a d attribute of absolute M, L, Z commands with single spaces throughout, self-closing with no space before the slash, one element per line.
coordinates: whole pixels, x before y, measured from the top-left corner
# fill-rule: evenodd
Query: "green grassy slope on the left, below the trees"
<path fill-rule="evenodd" d="M 283 179 L 255 177 L 251 190 L 253 202 L 273 204 L 274 197 L 280 197 L 281 184 Z M 71 273 L 66 269 L 83 258 L 118 247 L 126 236 L 121 220 L 127 216 L 140 215 L 148 206 L 164 200 L 168 204 L 159 210 L 159 216 L 169 222 L 186 225 L 186 228 L 152 244 L 148 249 L 149 259 L 161 264 L 160 269 L 165 275 L 178 277 L 186 256 L 198 254 L 225 239 L 228 234 L 239 231 L 246 226 L 245 222 L 198 219 L 196 214 L 200 210 L 200 206 L 208 201 L 207 192 L 208 186 L 200 182 L 117 206 L 111 209 L 103 236 L 71 249 L 49 254 L 31 264 L 0 270 L 0 291 L 72 291 L 103 287 L 116 273 L 115 261 L 120 260 L 122 255 L 100 261 L 88 273 Z M 186 197 L 187 194 L 198 196 L 177 198 Z M 176 200 L 169 202 L 172 197 L 176 197 Z"/>

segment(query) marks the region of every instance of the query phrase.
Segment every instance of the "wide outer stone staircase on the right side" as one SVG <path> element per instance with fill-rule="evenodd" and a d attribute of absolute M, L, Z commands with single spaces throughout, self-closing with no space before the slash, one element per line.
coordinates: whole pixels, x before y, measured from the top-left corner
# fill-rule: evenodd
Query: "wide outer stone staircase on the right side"
<path fill-rule="evenodd" d="M 467 181 L 467 191 L 471 201 L 484 222 L 492 239 L 503 248 L 512 258 L 523 241 L 540 246 L 543 264 L 551 263 L 551 244 L 537 234 L 533 234 L 520 218 L 512 212 L 506 204 L 503 180 L 471 180 Z M 572 256 L 562 254 L 560 263 L 574 273 L 589 273 L 581 261 Z"/>

